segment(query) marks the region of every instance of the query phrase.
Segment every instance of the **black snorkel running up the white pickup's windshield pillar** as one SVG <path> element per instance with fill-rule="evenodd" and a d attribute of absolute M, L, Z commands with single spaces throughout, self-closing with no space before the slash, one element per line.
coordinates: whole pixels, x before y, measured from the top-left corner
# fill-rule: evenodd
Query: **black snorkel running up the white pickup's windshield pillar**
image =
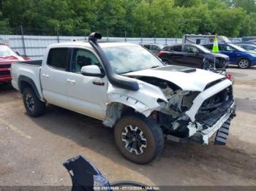
<path fill-rule="evenodd" d="M 116 86 L 127 90 L 137 91 L 139 90 L 138 82 L 135 80 L 129 79 L 128 77 L 123 77 L 113 72 L 113 69 L 108 61 L 105 52 L 98 44 L 98 39 L 102 39 L 102 35 L 98 33 L 91 33 L 89 35 L 89 43 L 94 48 L 95 52 L 99 55 L 99 58 L 102 61 L 103 68 L 105 70 L 106 76 L 108 77 L 109 82 Z"/>

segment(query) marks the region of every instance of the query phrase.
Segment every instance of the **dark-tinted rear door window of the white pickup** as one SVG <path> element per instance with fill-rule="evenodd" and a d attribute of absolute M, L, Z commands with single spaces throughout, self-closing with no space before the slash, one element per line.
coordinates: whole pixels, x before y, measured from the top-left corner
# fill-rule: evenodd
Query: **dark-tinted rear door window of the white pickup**
<path fill-rule="evenodd" d="M 68 48 L 52 48 L 49 51 L 47 64 L 55 69 L 65 70 L 69 63 Z"/>

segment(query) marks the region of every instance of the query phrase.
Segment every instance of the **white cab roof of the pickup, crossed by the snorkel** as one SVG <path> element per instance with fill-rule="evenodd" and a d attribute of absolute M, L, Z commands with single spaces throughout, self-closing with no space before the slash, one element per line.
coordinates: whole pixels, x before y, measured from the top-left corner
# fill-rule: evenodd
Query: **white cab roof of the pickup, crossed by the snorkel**
<path fill-rule="evenodd" d="M 129 42 L 99 42 L 100 47 L 123 47 L 123 46 L 132 46 L 138 44 L 132 44 Z M 75 41 L 75 42 L 61 42 L 56 44 L 50 44 L 49 47 L 72 47 L 72 46 L 79 46 L 79 47 L 91 47 L 89 42 L 82 42 L 82 41 Z"/>

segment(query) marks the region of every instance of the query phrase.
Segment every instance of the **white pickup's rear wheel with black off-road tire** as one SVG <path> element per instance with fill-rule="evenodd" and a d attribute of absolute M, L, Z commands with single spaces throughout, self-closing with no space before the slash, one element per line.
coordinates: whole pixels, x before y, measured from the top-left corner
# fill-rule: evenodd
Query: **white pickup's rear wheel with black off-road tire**
<path fill-rule="evenodd" d="M 28 102 L 31 104 L 28 104 Z M 45 113 L 45 102 L 40 101 L 34 93 L 34 90 L 30 87 L 26 87 L 26 89 L 23 90 L 23 104 L 26 108 L 26 112 L 31 117 L 39 117 Z"/>

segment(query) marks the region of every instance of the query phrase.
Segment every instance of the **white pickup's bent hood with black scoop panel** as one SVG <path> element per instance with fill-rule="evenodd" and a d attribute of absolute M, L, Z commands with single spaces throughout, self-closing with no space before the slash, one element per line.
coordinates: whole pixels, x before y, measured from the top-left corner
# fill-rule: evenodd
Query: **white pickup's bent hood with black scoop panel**
<path fill-rule="evenodd" d="M 192 69 L 184 66 L 163 66 L 157 69 L 146 69 L 123 74 L 127 77 L 155 77 L 164 79 L 181 87 L 182 90 L 202 92 L 206 85 L 218 79 L 225 78 L 221 74 L 202 69 Z"/>

